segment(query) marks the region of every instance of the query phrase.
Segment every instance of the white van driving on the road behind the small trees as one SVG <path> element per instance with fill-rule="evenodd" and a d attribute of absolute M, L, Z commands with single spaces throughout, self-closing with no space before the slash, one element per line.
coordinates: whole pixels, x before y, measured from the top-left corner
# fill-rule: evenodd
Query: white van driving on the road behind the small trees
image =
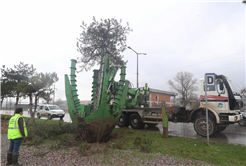
<path fill-rule="evenodd" d="M 41 117 L 48 117 L 48 119 L 52 118 L 60 118 L 63 119 L 65 116 L 65 112 L 57 105 L 51 104 L 39 104 L 37 117 L 40 119 Z"/>

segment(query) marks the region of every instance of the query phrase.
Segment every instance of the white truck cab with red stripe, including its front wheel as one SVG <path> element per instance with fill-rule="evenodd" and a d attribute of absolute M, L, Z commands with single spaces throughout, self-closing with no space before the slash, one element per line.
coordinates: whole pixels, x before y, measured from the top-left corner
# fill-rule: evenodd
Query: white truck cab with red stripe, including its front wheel
<path fill-rule="evenodd" d="M 190 114 L 190 121 L 194 123 L 195 131 L 204 137 L 207 135 L 205 87 L 207 87 L 210 136 L 222 132 L 229 124 L 237 123 L 243 119 L 240 113 L 243 103 L 229 78 L 215 74 L 213 81 L 215 86 L 207 87 L 204 78 L 200 80 L 200 107 Z"/>

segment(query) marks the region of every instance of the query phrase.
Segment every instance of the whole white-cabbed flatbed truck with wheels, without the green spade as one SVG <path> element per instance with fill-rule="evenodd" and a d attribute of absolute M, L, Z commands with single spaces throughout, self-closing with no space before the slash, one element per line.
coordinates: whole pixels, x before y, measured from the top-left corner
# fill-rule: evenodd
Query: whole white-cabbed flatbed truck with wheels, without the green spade
<path fill-rule="evenodd" d="M 207 87 L 207 110 L 209 135 L 226 129 L 230 124 L 237 123 L 243 119 L 240 108 L 243 107 L 240 95 L 228 77 L 224 75 L 215 75 L 213 80 L 215 86 Z M 134 91 L 139 96 L 139 91 Z M 151 92 L 150 92 L 151 93 Z M 172 96 L 175 96 L 174 94 Z M 132 96 L 134 99 L 134 96 Z M 150 98 L 151 99 L 151 98 Z M 153 103 L 152 98 L 149 102 Z M 157 97 L 156 97 L 157 99 Z M 206 137 L 206 102 L 205 102 L 205 80 L 200 80 L 200 100 L 198 102 L 190 101 L 185 106 L 170 106 L 163 102 L 168 109 L 168 120 L 174 123 L 193 123 L 197 134 Z M 145 107 L 138 105 L 126 107 L 123 109 L 118 125 L 133 129 L 143 128 L 145 124 L 155 126 L 162 123 L 161 107 Z"/>

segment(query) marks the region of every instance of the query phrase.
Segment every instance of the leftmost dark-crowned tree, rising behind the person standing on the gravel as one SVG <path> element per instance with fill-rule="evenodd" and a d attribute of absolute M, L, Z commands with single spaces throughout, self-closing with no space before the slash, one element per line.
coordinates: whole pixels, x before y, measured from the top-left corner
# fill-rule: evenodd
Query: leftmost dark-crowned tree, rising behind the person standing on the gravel
<path fill-rule="evenodd" d="M 21 97 L 20 88 L 18 88 L 18 84 L 22 81 L 28 82 L 29 78 L 35 73 L 36 69 L 33 68 L 33 65 L 29 66 L 28 64 L 24 64 L 24 62 L 20 62 L 19 65 L 14 65 L 14 68 L 3 68 L 1 69 L 2 77 L 6 78 L 9 82 L 12 83 L 13 95 L 16 97 L 15 108 L 17 108 L 19 98 Z M 23 84 L 23 83 L 21 83 Z M 23 85 L 21 85 L 23 86 Z"/>

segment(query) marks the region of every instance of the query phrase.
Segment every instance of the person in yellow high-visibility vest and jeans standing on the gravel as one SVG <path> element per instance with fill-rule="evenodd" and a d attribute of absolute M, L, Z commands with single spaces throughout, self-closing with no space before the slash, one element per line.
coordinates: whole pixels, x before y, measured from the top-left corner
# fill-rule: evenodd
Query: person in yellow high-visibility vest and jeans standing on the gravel
<path fill-rule="evenodd" d="M 16 108 L 15 115 L 9 120 L 8 139 L 10 139 L 6 165 L 20 165 L 18 163 L 19 149 L 24 139 L 26 141 L 27 128 L 23 118 L 23 108 Z"/>

